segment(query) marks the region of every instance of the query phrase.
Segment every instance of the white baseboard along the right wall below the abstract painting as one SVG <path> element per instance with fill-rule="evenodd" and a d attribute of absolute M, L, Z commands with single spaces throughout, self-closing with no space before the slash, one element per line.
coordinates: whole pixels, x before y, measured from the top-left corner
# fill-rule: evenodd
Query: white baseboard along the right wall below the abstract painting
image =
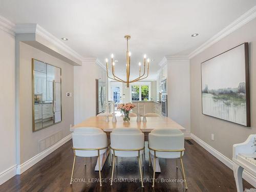
<path fill-rule="evenodd" d="M 195 136 L 193 133 L 190 134 L 191 139 L 196 141 L 199 145 L 201 145 L 207 152 L 209 152 L 211 155 L 215 156 L 217 159 L 219 159 L 222 163 L 224 163 L 226 166 L 228 166 L 230 169 L 233 170 L 233 161 L 228 159 L 225 155 L 218 152 L 215 148 L 208 145 L 206 142 Z M 243 172 L 243 178 L 248 183 L 250 183 L 252 186 L 256 187 L 256 178 L 248 173 L 246 170 Z"/>

